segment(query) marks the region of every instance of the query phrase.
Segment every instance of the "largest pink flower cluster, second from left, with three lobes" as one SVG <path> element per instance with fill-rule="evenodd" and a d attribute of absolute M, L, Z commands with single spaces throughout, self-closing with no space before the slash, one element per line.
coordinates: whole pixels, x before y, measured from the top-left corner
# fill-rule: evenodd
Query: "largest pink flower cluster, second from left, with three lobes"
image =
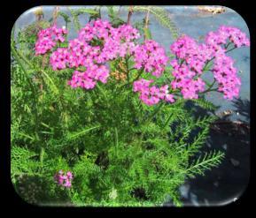
<path fill-rule="evenodd" d="M 106 83 L 109 70 L 104 64 L 107 61 L 134 53 L 134 41 L 139 36 L 132 26 L 114 28 L 108 21 L 97 19 L 81 28 L 78 37 L 69 41 L 67 49 L 54 51 L 50 56 L 50 64 L 54 71 L 66 67 L 85 67 L 85 71 L 74 71 L 68 84 L 91 89 L 96 86 L 97 80 Z"/>

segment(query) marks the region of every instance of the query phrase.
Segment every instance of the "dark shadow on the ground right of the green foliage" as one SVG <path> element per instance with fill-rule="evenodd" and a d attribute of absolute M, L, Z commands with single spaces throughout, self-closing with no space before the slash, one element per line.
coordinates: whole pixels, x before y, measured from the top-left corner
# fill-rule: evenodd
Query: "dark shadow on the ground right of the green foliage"
<path fill-rule="evenodd" d="M 190 179 L 180 187 L 185 206 L 218 206 L 236 200 L 243 194 L 250 177 L 250 101 L 233 101 L 240 117 L 230 122 L 229 115 L 216 121 L 203 152 L 221 150 L 225 159 L 218 168 L 206 171 L 206 176 Z M 196 116 L 207 111 L 190 102 Z"/>

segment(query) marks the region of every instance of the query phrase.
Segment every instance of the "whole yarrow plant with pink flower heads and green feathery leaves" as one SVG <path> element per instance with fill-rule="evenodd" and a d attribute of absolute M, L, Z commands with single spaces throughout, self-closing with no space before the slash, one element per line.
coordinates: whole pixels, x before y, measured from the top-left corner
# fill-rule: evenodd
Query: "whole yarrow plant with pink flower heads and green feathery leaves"
<path fill-rule="evenodd" d="M 143 28 L 130 24 L 136 11 L 146 12 Z M 173 26 L 160 8 L 135 6 L 126 22 L 110 7 L 109 20 L 98 10 L 59 12 L 66 27 L 49 23 L 33 43 L 12 35 L 12 182 L 19 186 L 20 175 L 40 181 L 37 202 L 160 206 L 170 197 L 181 206 L 179 186 L 224 158 L 220 151 L 195 156 L 215 117 L 195 117 L 186 102 L 215 109 L 204 94 L 237 97 L 241 80 L 228 53 L 249 39 L 220 26 L 203 42 L 180 35 L 167 56 L 149 34 L 150 12 Z M 82 13 L 90 21 L 81 27 Z"/>

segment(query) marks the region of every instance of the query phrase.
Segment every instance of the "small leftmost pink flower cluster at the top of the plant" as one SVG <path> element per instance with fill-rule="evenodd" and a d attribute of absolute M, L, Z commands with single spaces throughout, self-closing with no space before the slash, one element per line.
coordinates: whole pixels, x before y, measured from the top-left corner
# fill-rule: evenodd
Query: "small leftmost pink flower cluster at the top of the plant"
<path fill-rule="evenodd" d="M 51 26 L 41 30 L 37 34 L 37 41 L 35 42 L 35 55 L 43 55 L 56 46 L 56 42 L 65 41 L 64 35 L 67 34 L 66 28 L 57 28 Z"/>

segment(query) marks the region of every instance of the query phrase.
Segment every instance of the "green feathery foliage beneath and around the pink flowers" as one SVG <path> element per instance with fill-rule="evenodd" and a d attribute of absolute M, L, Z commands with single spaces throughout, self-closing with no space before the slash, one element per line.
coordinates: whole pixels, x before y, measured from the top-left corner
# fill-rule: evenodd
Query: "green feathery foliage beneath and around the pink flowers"
<path fill-rule="evenodd" d="M 147 10 L 176 37 L 164 9 L 134 7 Z M 72 9 L 74 26 L 81 27 L 81 13 L 96 18 L 98 11 Z M 113 25 L 122 24 L 114 7 L 108 12 Z M 66 14 L 58 14 L 70 22 Z M 215 151 L 197 158 L 214 118 L 195 118 L 185 100 L 144 105 L 127 80 L 112 76 L 93 90 L 72 89 L 66 86 L 72 70 L 57 73 L 43 65 L 42 56 L 34 56 L 31 39 L 36 31 L 29 37 L 24 30 L 12 36 L 11 174 L 16 190 L 23 187 L 19 195 L 36 204 L 94 207 L 162 206 L 170 197 L 182 206 L 179 186 L 223 159 Z M 112 62 L 112 71 L 120 70 L 116 66 L 123 61 Z M 136 78 L 137 71 L 128 73 L 129 79 Z M 210 102 L 196 102 L 214 109 Z M 70 190 L 54 181 L 59 169 L 74 173 Z M 43 189 L 30 193 L 27 184 L 32 183 Z"/>

